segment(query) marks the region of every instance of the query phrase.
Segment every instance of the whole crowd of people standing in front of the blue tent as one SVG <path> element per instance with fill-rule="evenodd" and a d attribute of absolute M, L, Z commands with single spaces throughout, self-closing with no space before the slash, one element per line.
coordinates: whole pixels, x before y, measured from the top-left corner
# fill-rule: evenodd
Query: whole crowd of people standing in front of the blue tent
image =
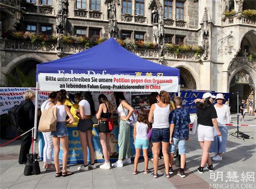
<path fill-rule="evenodd" d="M 129 118 L 133 115 L 134 109 L 127 102 L 122 92 L 114 92 L 115 105 L 105 95 L 100 94 L 98 97 L 99 108 L 95 111 L 94 101 L 90 92 L 75 94 L 74 104 L 69 104 L 67 93 L 65 90 L 52 92 L 49 99 L 41 105 L 41 111 L 49 109 L 49 107 L 57 108 L 57 125 L 56 130 L 52 132 L 42 132 L 45 141 L 43 161 L 44 169 L 56 170 L 55 177 L 69 176 L 73 172 L 67 170 L 69 138 L 66 124 L 77 123 L 77 130 L 82 146 L 83 164 L 78 170 L 88 171 L 96 169 L 94 161 L 94 147 L 92 143 L 92 118 L 96 116 L 98 120 L 99 139 L 102 147 L 104 163 L 99 166 L 100 169 L 111 169 L 111 167 L 123 167 L 125 164 L 131 164 L 132 150 L 130 140 L 131 124 Z M 153 96 L 153 95 L 152 95 Z M 33 91 L 27 91 L 24 94 L 25 101 L 23 103 L 27 120 L 27 130 L 33 127 L 35 106 L 33 100 L 35 94 Z M 144 174 L 148 173 L 148 150 L 152 147 L 153 151 L 153 177 L 158 177 L 159 154 L 162 151 L 165 167 L 165 176 L 169 178 L 174 173 L 172 165 L 174 154 L 178 149 L 181 156 L 180 169 L 177 174 L 185 177 L 186 165 L 186 142 L 189 140 L 189 124 L 190 116 L 187 110 L 182 107 L 182 98 L 175 97 L 174 102 L 170 99 L 166 91 L 161 91 L 154 96 L 154 103 L 151 103 L 151 109 L 148 113 L 145 107 L 141 107 L 137 114 L 137 122 L 134 124 L 134 145 L 136 154 L 134 158 L 133 174 L 138 174 L 138 160 L 143 151 L 144 157 Z M 214 104 L 216 99 L 216 104 Z M 211 163 L 209 152 L 216 155 L 212 160 L 222 160 L 222 154 L 226 151 L 227 127 L 225 124 L 230 123 L 229 107 L 224 102 L 223 94 L 217 96 L 211 93 L 205 93 L 202 99 L 196 99 L 197 119 L 198 119 L 198 141 L 202 148 L 201 164 L 197 169 L 199 173 L 203 173 L 207 164 L 207 170 L 214 171 Z M 72 105 L 72 106 L 71 106 Z M 110 164 L 110 156 L 115 153 L 111 149 L 111 143 L 115 143 L 111 138 L 109 122 L 113 117 L 113 113 L 118 114 L 118 160 L 114 164 Z M 59 166 L 60 143 L 62 146 L 62 169 Z M 151 146 L 151 143 L 153 146 Z M 115 145 L 115 144 L 114 144 Z M 22 143 L 19 155 L 19 164 L 26 164 L 26 154 L 29 153 L 31 146 L 31 132 L 22 137 Z M 54 164 L 52 164 L 52 152 L 54 149 Z M 89 150 L 88 150 L 89 149 Z M 88 163 L 88 153 L 90 153 L 90 163 Z"/>

